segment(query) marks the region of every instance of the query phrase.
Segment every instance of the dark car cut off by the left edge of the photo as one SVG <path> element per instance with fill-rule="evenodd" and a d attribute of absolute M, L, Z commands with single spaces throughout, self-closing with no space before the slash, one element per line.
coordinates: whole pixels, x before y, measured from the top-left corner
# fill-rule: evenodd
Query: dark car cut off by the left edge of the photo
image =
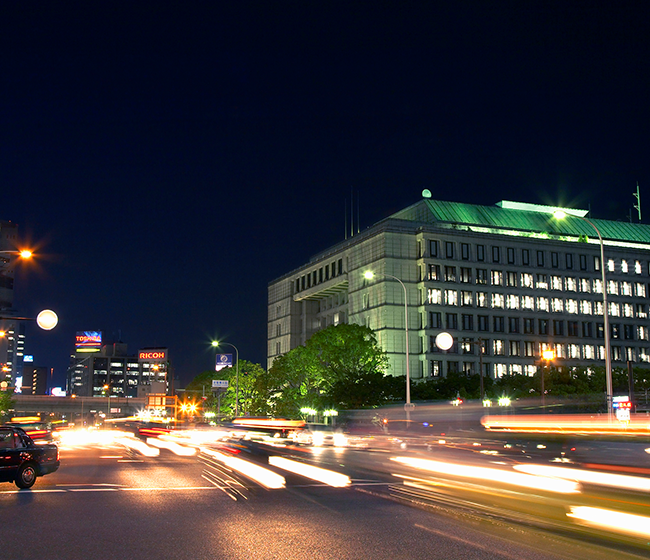
<path fill-rule="evenodd" d="M 59 464 L 56 444 L 36 445 L 22 428 L 0 426 L 0 482 L 31 488 L 37 477 L 56 471 Z"/>

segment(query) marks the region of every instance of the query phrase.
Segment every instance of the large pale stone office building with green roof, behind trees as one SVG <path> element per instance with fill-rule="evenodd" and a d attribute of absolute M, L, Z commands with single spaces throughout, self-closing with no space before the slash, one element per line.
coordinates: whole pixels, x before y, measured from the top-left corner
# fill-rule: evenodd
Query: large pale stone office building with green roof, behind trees
<path fill-rule="evenodd" d="M 406 373 L 408 353 L 416 379 L 478 373 L 481 363 L 492 377 L 532 375 L 545 350 L 558 365 L 604 365 L 603 290 L 613 366 L 650 361 L 650 226 L 423 196 L 269 284 L 269 367 L 344 322 L 375 332 L 392 375 Z M 449 350 L 436 344 L 444 331 Z"/>

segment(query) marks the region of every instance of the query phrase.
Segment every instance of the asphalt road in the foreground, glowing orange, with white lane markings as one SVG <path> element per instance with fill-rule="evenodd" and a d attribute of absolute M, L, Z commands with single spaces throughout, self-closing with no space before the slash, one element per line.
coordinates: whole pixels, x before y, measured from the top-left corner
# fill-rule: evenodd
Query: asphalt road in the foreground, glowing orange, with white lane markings
<path fill-rule="evenodd" d="M 644 554 L 404 499 L 393 492 L 402 482 L 386 466 L 387 450 L 290 455 L 345 473 L 352 485 L 335 488 L 287 474 L 285 488 L 269 490 L 211 457 L 167 450 L 145 457 L 115 444 L 62 446 L 60 470 L 32 490 L 0 485 L 2 556 L 600 560 Z M 247 451 L 240 456 L 265 462 Z"/>

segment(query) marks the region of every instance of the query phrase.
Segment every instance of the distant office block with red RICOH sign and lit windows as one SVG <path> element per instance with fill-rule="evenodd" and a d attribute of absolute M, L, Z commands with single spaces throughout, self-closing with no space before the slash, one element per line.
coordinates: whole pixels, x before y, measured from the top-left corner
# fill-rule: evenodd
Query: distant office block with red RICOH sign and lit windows
<path fill-rule="evenodd" d="M 108 394 L 141 397 L 148 392 L 166 393 L 168 356 L 167 348 L 143 348 L 136 355 L 128 355 L 124 343 L 106 344 L 94 352 L 89 352 L 87 345 L 77 344 L 70 357 L 67 392 L 83 397 Z M 152 387 L 156 390 L 152 391 Z"/>

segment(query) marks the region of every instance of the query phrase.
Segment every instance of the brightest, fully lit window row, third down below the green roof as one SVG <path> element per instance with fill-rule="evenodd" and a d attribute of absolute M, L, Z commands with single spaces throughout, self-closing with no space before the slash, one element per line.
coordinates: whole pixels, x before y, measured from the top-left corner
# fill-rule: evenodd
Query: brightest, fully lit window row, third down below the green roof
<path fill-rule="evenodd" d="M 450 307 L 478 307 L 484 309 L 508 309 L 536 311 L 542 313 L 567 313 L 570 315 L 602 315 L 603 302 L 588 299 L 572 299 L 544 296 L 519 296 L 465 290 L 440 290 L 429 288 L 425 303 L 429 305 L 447 305 Z M 607 308 L 611 317 L 648 318 L 648 306 L 645 303 L 620 303 L 608 301 Z"/>

